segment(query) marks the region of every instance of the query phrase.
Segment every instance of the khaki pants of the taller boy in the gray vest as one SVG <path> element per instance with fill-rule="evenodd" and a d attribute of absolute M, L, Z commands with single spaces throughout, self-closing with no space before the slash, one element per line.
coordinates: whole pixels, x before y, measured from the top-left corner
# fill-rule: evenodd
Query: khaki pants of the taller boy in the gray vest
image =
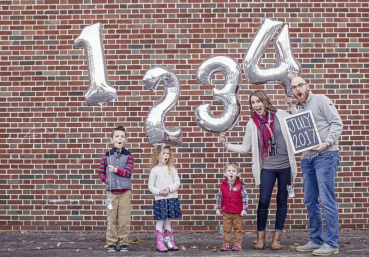
<path fill-rule="evenodd" d="M 131 223 L 131 190 L 121 194 L 106 192 L 113 199 L 113 209 L 107 210 L 108 226 L 106 228 L 106 244 L 128 244 L 129 226 Z M 117 229 L 117 225 L 119 228 Z"/>

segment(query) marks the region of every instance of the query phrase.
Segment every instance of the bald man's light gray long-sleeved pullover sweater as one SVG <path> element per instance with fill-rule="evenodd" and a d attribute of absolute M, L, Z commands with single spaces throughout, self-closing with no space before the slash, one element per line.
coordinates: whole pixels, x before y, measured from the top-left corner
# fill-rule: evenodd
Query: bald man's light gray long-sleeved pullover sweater
<path fill-rule="evenodd" d="M 343 123 L 332 100 L 325 95 L 314 95 L 309 91 L 305 103 L 305 111 L 307 110 L 311 110 L 313 114 L 320 140 L 329 146 L 326 151 L 338 151 L 338 138 L 342 133 Z M 296 107 L 293 107 L 291 109 L 293 114 L 303 111 L 302 108 L 297 110 Z M 302 153 L 302 157 L 316 153 L 315 150 L 307 150 Z"/>

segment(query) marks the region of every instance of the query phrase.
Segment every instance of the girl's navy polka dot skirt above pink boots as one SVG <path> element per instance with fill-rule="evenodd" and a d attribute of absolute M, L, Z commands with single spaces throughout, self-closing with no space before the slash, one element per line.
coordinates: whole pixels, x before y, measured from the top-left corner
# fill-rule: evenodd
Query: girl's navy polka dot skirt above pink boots
<path fill-rule="evenodd" d="M 178 198 L 153 200 L 152 212 L 154 220 L 162 220 L 167 218 L 179 218 L 182 216 Z"/>

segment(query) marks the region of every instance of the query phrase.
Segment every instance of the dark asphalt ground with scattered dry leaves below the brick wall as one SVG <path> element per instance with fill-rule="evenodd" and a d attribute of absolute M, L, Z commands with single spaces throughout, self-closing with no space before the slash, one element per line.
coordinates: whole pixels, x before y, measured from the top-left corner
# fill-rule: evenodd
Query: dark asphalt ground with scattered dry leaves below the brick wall
<path fill-rule="evenodd" d="M 369 230 L 344 230 L 339 233 L 339 253 L 334 256 L 368 257 Z M 256 233 L 243 234 L 242 251 L 220 251 L 223 236 L 219 233 L 174 233 L 179 251 L 155 250 L 154 233 L 131 233 L 128 252 L 107 252 L 104 233 L 71 232 L 8 232 L 0 231 L 1 257 L 68 257 L 68 256 L 313 256 L 311 252 L 299 252 L 297 245 L 308 241 L 307 231 L 282 234 L 282 249 L 270 248 L 272 233 L 266 236 L 266 248 L 255 250 Z M 332 255 L 331 255 L 332 256 Z"/>

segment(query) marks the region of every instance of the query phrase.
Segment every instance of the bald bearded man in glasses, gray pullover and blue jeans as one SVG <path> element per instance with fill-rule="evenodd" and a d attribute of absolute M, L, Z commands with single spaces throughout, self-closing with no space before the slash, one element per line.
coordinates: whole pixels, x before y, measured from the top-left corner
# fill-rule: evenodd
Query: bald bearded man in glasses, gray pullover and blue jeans
<path fill-rule="evenodd" d="M 338 137 L 342 133 L 343 123 L 332 100 L 325 95 L 314 95 L 303 78 L 293 78 L 291 90 L 298 101 L 296 106 L 299 107 L 297 110 L 292 104 L 292 98 L 286 96 L 285 100 L 291 112 L 294 114 L 311 110 L 322 142 L 315 148 L 304 151 L 301 156 L 310 240 L 304 245 L 297 246 L 296 250 L 313 251 L 313 255 L 323 256 L 338 253 L 338 209 L 334 182 L 339 163 Z M 326 224 L 325 233 L 321 211 Z"/>

